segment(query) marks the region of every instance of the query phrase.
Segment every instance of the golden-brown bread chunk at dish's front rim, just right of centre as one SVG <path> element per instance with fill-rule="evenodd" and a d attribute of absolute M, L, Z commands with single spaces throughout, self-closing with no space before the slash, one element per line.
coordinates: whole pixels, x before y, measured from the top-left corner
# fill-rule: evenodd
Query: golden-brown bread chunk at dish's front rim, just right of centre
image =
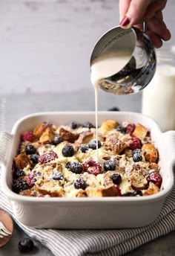
<path fill-rule="evenodd" d="M 97 187 L 97 188 L 86 188 L 87 196 L 90 197 L 102 197 L 102 196 L 119 196 L 119 190 L 115 185 L 112 185 L 108 188 Z"/>

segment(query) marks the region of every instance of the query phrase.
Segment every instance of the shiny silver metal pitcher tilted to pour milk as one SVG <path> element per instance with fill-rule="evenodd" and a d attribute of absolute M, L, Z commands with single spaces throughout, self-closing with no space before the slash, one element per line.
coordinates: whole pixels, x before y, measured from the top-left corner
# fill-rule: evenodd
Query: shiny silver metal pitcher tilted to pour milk
<path fill-rule="evenodd" d="M 96 42 L 90 66 L 97 57 L 105 54 L 127 51 L 130 55 L 122 70 L 99 81 L 99 87 L 105 92 L 127 95 L 141 91 L 150 83 L 156 71 L 156 54 L 145 31 L 146 23 L 144 31 L 138 28 L 126 30 L 119 26 L 110 29 Z"/>

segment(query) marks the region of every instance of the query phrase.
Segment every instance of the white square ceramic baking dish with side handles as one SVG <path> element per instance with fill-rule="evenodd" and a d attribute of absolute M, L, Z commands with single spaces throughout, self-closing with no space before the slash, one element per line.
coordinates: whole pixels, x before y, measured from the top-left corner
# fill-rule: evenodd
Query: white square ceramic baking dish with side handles
<path fill-rule="evenodd" d="M 43 121 L 56 125 L 90 121 L 94 112 L 42 112 L 27 115 L 14 124 L 11 134 L 1 133 L 1 188 L 10 200 L 13 214 L 21 223 L 36 228 L 136 228 L 148 225 L 159 215 L 174 185 L 175 131 L 162 133 L 150 118 L 134 112 L 99 112 L 99 124 L 107 119 L 141 123 L 151 130 L 159 150 L 162 187 L 159 193 L 139 197 L 42 198 L 13 193 L 12 162 L 22 132 Z"/>

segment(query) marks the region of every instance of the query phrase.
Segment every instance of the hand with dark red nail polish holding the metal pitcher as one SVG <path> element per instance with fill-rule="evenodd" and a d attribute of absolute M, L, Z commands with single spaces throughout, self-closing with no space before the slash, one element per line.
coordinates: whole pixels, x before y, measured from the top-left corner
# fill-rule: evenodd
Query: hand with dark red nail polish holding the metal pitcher
<path fill-rule="evenodd" d="M 148 35 L 156 48 L 162 46 L 162 40 L 171 39 L 171 33 L 163 21 L 162 10 L 167 0 L 119 0 L 120 25 L 131 28 L 133 25 L 142 29 L 142 22 L 147 22 Z"/>

